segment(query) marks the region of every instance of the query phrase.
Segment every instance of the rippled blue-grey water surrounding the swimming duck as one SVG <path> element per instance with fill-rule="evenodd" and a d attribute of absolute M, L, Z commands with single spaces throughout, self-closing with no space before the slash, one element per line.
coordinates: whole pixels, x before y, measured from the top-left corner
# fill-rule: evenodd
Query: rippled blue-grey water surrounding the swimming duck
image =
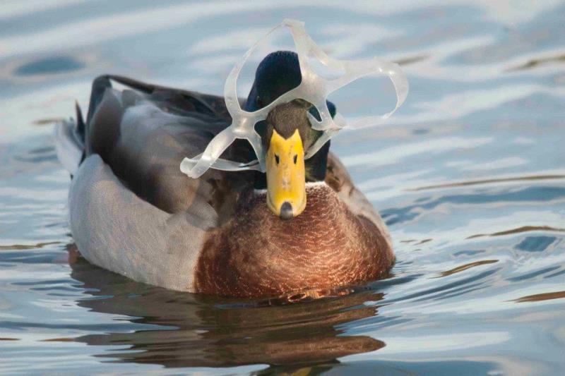
<path fill-rule="evenodd" d="M 565 5 L 316 4 L 2 2 L 0 372 L 564 372 Z M 393 277 L 268 307 L 77 257 L 52 121 L 100 73 L 220 93 L 283 17 L 333 56 L 403 61 L 405 106 L 333 142 L 390 226 Z"/>

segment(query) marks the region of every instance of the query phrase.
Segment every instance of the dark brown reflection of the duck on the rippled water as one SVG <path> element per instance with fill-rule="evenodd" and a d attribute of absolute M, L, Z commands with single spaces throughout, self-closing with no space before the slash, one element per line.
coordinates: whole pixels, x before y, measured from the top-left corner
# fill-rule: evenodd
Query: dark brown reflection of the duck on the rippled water
<path fill-rule="evenodd" d="M 83 288 L 89 290 L 85 293 L 90 295 L 78 305 L 95 312 L 131 316 L 130 322 L 143 327 L 136 332 L 105 332 L 74 339 L 90 345 L 130 346 L 100 355 L 114 360 L 165 367 L 297 365 L 333 363 L 335 358 L 384 346 L 369 336 L 340 335 L 343 330 L 338 328 L 345 322 L 376 315 L 376 308 L 362 306 L 364 301 L 381 298 L 374 291 L 307 303 L 257 306 L 251 301 L 227 301 L 138 284 L 90 265 L 81 257 L 70 264 L 71 277 L 83 282 Z"/>

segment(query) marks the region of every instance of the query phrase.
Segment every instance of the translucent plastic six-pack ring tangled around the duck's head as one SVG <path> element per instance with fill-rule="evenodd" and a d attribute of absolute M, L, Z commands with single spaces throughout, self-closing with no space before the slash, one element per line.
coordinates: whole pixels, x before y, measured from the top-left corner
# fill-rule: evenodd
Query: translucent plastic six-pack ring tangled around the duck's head
<path fill-rule="evenodd" d="M 258 45 L 263 42 L 263 40 L 266 40 L 275 30 L 280 28 L 288 28 L 292 35 L 292 40 L 295 42 L 302 81 L 297 87 L 281 95 L 268 104 L 268 106 L 254 112 L 244 111 L 240 107 L 237 99 L 236 83 L 239 73 L 242 71 L 242 67 L 247 59 L 249 59 L 249 56 L 257 49 Z M 343 75 L 333 79 L 323 78 L 311 68 L 309 63 L 310 59 L 316 59 L 329 69 L 342 71 Z M 350 125 L 347 124 L 343 116 L 339 113 L 332 119 L 326 104 L 328 95 L 340 89 L 340 87 L 367 75 L 387 75 L 388 78 L 391 79 L 396 90 L 396 107 L 387 114 L 365 117 Z M 227 76 L 224 85 L 224 97 L 227 111 L 229 111 L 232 116 L 231 125 L 218 133 L 218 135 L 215 135 L 203 153 L 196 157 L 184 158 L 180 169 L 191 178 L 202 176 L 202 174 L 210 168 L 223 171 L 244 171 L 250 169 L 266 171 L 266 151 L 263 150 L 261 137 L 255 131 L 254 126 L 258 121 L 265 120 L 271 109 L 279 104 L 291 102 L 294 99 L 304 99 L 310 102 L 316 107 L 320 114 L 320 121 L 314 116 L 311 116 L 311 114 L 308 114 L 312 128 L 323 131 L 321 137 L 307 150 L 305 158 L 308 159 L 316 154 L 320 147 L 332 138 L 333 135 L 346 126 L 351 128 L 372 126 L 380 123 L 383 119 L 387 119 L 388 116 L 391 116 L 393 112 L 403 104 L 407 95 L 408 80 L 406 80 L 398 64 L 380 59 L 358 61 L 332 59 L 311 39 L 304 28 L 304 23 L 298 20 L 286 19 L 283 23 L 273 28 L 273 30 L 270 30 L 261 40 L 258 40 L 258 42 L 244 54 L 242 59 L 232 68 L 232 71 Z M 248 163 L 220 159 L 220 155 L 236 139 L 248 140 L 255 151 L 257 159 Z"/>

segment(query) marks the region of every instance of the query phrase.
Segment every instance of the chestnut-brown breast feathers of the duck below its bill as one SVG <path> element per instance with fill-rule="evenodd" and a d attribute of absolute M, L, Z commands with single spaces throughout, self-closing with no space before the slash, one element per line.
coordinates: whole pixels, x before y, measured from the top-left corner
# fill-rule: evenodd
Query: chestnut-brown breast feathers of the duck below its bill
<path fill-rule="evenodd" d="M 347 210 L 328 186 L 311 186 L 306 209 L 288 221 L 268 210 L 264 195 L 250 198 L 208 237 L 195 287 L 221 296 L 278 296 L 378 279 L 393 260 L 372 222 Z"/>

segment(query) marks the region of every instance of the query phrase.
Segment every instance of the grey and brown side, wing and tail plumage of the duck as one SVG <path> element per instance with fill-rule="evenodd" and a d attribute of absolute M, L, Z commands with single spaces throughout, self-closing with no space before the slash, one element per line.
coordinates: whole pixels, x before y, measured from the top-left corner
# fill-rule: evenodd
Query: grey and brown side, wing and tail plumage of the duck
<path fill-rule="evenodd" d="M 83 145 L 76 126 L 59 124 L 57 152 L 74 174 L 69 221 L 81 255 L 136 281 L 193 291 L 198 253 L 218 214 L 207 200 L 207 179 L 187 178 L 179 164 L 224 126 L 221 119 L 177 116 L 146 95 L 108 88 L 78 166 Z"/>

